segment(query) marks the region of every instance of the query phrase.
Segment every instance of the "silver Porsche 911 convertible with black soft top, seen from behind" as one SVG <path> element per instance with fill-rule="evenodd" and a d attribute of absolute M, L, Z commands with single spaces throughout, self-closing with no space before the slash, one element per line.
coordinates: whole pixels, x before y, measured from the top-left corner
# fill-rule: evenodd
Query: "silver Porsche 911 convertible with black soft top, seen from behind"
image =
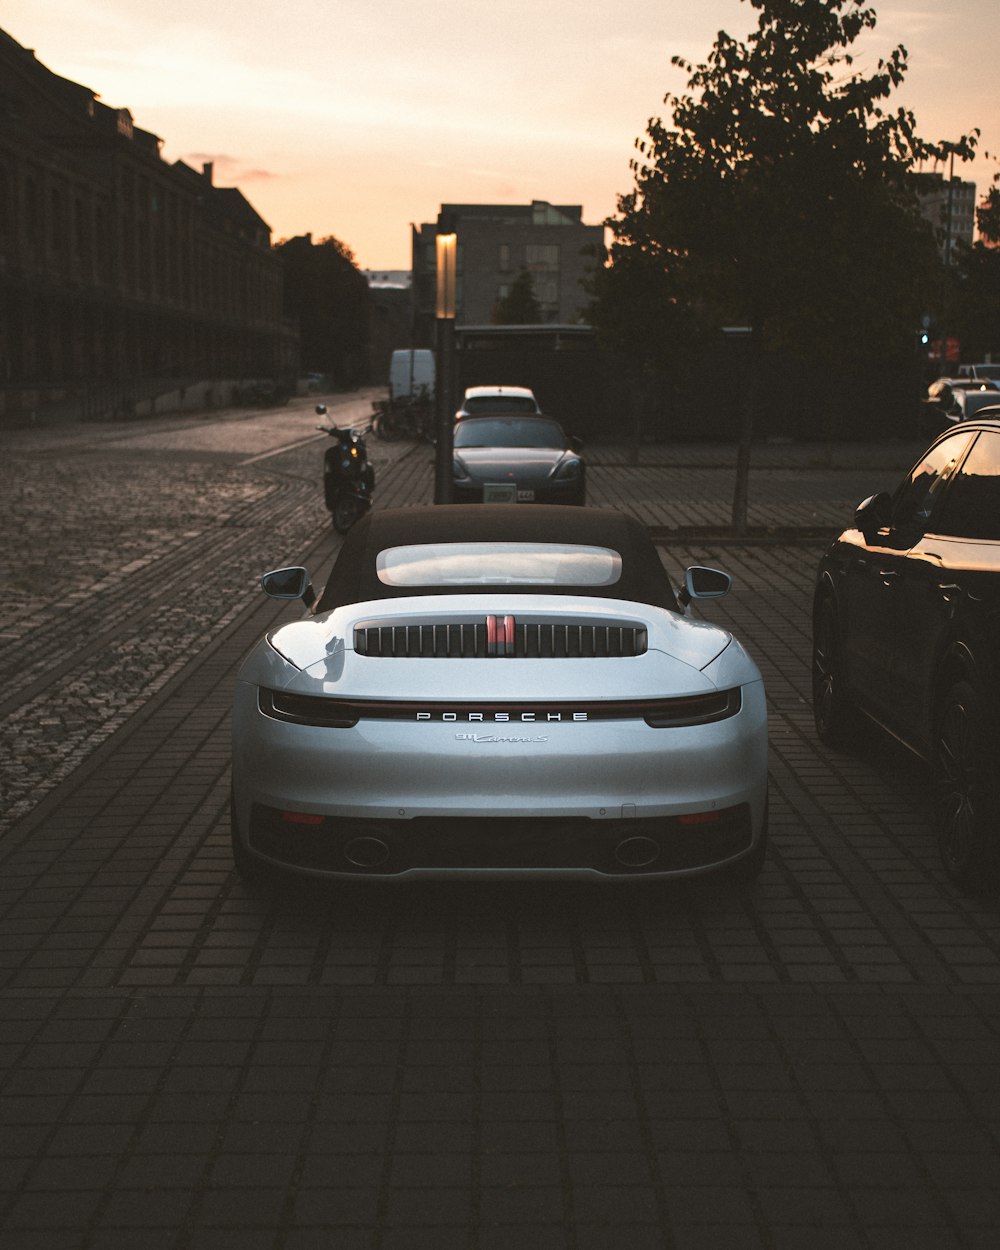
<path fill-rule="evenodd" d="M 245 660 L 232 710 L 240 871 L 754 876 L 768 829 L 756 665 L 621 512 L 370 512 L 309 614 Z"/>

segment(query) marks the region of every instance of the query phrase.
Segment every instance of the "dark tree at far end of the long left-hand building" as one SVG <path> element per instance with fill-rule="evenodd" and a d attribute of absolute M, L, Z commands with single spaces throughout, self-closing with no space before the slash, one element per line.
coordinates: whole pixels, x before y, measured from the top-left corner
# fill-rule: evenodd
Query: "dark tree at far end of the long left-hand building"
<path fill-rule="evenodd" d="M 350 248 L 332 235 L 275 244 L 284 262 L 285 314 L 299 324 L 302 369 L 351 389 L 368 375 L 369 289 Z"/>

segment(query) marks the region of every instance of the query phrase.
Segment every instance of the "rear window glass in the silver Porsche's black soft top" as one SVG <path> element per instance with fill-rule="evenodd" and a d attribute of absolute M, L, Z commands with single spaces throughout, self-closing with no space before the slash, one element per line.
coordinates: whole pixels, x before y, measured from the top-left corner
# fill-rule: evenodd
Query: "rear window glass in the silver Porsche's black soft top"
<path fill-rule="evenodd" d="M 611 548 L 562 542 L 435 542 L 386 548 L 375 570 L 386 586 L 612 586 Z"/>

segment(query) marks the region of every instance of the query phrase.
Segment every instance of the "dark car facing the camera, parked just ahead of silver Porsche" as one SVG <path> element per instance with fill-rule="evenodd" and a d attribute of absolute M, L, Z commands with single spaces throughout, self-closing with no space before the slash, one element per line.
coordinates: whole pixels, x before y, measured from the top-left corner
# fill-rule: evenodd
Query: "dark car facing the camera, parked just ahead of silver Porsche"
<path fill-rule="evenodd" d="M 468 416 L 455 426 L 456 504 L 582 504 L 579 439 L 548 416 Z"/>

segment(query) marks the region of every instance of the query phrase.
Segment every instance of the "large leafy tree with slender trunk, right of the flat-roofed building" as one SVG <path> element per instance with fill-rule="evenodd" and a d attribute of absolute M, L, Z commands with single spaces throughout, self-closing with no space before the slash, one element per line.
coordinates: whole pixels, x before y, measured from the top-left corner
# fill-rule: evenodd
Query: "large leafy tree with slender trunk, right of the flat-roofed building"
<path fill-rule="evenodd" d="M 745 42 L 720 31 L 704 64 L 672 59 L 688 92 L 668 94 L 670 124 L 654 118 L 636 140 L 635 189 L 609 221 L 610 271 L 595 310 L 606 330 L 641 274 L 639 290 L 659 289 L 675 322 L 749 328 L 736 529 L 746 525 L 761 352 L 912 351 L 939 262 L 911 172 L 942 156 L 909 111 L 884 106 L 905 76 L 904 48 L 869 76 L 850 71 L 848 49 L 875 26 L 874 10 L 856 0 L 749 2 L 759 19 Z M 646 359 L 661 350 L 648 334 L 636 346 Z"/>

